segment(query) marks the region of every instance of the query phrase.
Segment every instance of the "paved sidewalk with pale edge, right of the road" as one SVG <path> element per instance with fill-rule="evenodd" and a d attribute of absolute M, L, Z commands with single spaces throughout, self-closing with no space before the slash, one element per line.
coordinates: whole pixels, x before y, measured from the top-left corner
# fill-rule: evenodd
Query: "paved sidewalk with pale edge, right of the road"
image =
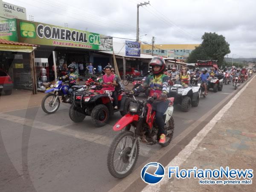
<path fill-rule="evenodd" d="M 235 101 L 229 102 L 168 166 L 179 166 L 180 170 L 193 169 L 195 166 L 198 169 L 220 169 L 220 166 L 229 166 L 230 169 L 253 169 L 253 173 L 256 173 L 256 77 L 253 77 L 250 84 L 240 93 L 237 99 L 233 98 Z M 230 101 L 232 102 L 232 99 Z M 207 126 L 212 128 L 206 130 Z M 160 183 L 145 187 L 144 191 L 255 191 L 256 188 L 255 177 L 250 185 L 210 185 L 199 184 L 199 179 L 193 176 L 190 179 L 168 179 L 167 175 L 168 173 Z"/>

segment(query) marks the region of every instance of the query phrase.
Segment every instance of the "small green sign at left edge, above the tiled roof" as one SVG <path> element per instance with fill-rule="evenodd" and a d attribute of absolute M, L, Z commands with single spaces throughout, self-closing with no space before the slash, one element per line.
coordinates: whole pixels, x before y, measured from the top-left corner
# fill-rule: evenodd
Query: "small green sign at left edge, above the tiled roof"
<path fill-rule="evenodd" d="M 0 39 L 17 41 L 17 23 L 15 19 L 0 21 Z"/>

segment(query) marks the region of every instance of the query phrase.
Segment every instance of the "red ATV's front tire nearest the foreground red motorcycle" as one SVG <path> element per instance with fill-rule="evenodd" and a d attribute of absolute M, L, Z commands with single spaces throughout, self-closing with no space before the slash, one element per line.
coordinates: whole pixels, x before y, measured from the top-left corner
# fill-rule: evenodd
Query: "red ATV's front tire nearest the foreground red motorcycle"
<path fill-rule="evenodd" d="M 93 108 L 91 113 L 91 121 L 96 127 L 102 127 L 109 118 L 109 111 L 105 105 L 99 104 Z"/>

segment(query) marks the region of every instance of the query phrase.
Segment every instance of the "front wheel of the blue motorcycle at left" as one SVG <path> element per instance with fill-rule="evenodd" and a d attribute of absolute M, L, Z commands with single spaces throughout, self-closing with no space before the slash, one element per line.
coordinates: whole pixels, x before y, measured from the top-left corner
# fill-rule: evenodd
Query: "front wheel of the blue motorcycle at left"
<path fill-rule="evenodd" d="M 54 103 L 56 97 L 57 100 Z M 41 102 L 43 111 L 48 114 L 55 113 L 55 111 L 57 111 L 60 107 L 60 104 L 61 103 L 58 95 L 55 95 L 54 93 L 49 93 L 48 95 L 46 95 Z"/>

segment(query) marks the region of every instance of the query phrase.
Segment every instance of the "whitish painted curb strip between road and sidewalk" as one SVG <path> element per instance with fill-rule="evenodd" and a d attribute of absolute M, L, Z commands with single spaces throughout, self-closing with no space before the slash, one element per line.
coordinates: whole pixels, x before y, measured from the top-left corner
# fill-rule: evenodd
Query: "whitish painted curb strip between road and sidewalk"
<path fill-rule="evenodd" d="M 255 78 L 255 76 L 250 79 L 250 81 L 225 105 L 221 111 L 219 111 L 212 120 L 194 137 L 191 142 L 186 145 L 186 147 L 180 151 L 180 153 L 168 163 L 165 167 L 168 170 L 169 166 L 180 166 L 186 159 L 192 154 L 193 151 L 197 148 L 198 144 L 204 139 L 204 137 L 208 134 L 208 132 L 214 127 L 216 122 L 221 119 L 221 117 L 226 113 L 226 111 L 232 106 L 232 104 L 236 101 L 236 99 L 241 95 L 241 93 L 246 89 L 246 87 L 250 84 L 250 82 Z M 169 182 L 168 177 L 164 177 L 160 183 L 155 185 L 147 185 L 142 191 L 160 191 L 160 186 Z"/>

